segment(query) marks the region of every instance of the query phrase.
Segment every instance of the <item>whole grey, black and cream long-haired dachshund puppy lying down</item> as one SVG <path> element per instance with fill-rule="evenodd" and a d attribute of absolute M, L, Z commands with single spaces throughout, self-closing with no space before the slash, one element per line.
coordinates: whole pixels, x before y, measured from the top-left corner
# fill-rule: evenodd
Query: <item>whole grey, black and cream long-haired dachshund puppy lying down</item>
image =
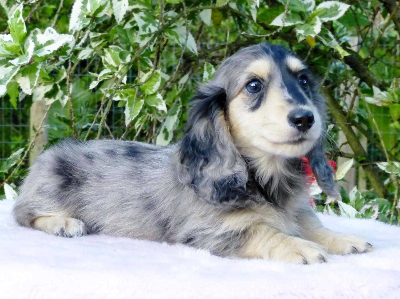
<path fill-rule="evenodd" d="M 230 258 L 298 264 L 371 251 L 322 226 L 299 157 L 337 195 L 324 98 L 290 51 L 262 43 L 226 59 L 192 100 L 181 140 L 64 141 L 42 153 L 14 207 L 20 225 L 182 243 Z"/>

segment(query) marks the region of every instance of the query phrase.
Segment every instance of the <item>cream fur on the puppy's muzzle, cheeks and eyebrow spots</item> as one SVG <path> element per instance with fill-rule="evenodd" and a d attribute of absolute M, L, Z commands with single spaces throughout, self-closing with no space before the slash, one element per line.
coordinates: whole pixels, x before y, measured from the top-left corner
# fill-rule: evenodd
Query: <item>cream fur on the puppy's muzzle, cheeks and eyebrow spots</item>
<path fill-rule="evenodd" d="M 301 70 L 304 65 L 297 58 L 286 60 L 290 69 Z M 254 156 L 260 150 L 272 155 L 299 157 L 305 155 L 322 131 L 322 121 L 316 107 L 308 99 L 306 104 L 296 104 L 284 86 L 277 66 L 271 60 L 254 61 L 245 71 L 247 77 L 259 78 L 264 83 L 264 98 L 256 110 L 249 109 L 252 95 L 246 91 L 246 82 L 239 94 L 228 104 L 231 134 L 243 153 Z M 306 95 L 304 94 L 306 97 Z M 293 102 L 293 103 L 291 103 Z M 315 123 L 310 130 L 301 133 L 288 122 L 288 114 L 303 108 L 314 114 Z M 298 141 L 303 138 L 304 141 Z"/>

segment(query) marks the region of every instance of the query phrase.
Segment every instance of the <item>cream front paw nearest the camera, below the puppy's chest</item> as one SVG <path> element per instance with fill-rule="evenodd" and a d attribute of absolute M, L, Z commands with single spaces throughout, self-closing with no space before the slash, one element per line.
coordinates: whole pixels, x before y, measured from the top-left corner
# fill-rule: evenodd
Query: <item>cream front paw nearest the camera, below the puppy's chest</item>
<path fill-rule="evenodd" d="M 277 247 L 270 250 L 269 257 L 270 259 L 304 265 L 328 261 L 326 252 L 320 245 L 298 237 L 286 237 Z"/>

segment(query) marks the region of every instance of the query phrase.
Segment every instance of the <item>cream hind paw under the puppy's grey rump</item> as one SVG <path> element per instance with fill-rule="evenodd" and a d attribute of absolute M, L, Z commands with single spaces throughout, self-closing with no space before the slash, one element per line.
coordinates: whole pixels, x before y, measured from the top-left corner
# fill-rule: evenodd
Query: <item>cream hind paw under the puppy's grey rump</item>
<path fill-rule="evenodd" d="M 38 217 L 34 228 L 52 235 L 74 238 L 87 234 L 86 225 L 75 218 L 61 216 Z"/>

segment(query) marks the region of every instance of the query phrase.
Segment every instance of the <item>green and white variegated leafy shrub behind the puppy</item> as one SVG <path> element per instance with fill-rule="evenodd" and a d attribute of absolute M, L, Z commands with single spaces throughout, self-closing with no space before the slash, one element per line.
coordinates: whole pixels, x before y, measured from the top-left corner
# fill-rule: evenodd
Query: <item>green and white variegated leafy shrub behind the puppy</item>
<path fill-rule="evenodd" d="M 342 202 L 314 190 L 316 209 L 400 221 L 400 2 L 0 4 L 0 198 L 15 197 L 26 173 L 34 146 L 32 102 L 47 104 L 41 126 L 48 145 L 71 136 L 168 144 L 182 134 L 198 83 L 209 80 L 227 56 L 266 40 L 296 53 L 321 79 L 330 117 L 328 156 L 351 159 L 340 165 L 338 179 L 350 167 L 367 178 L 362 192 L 342 190 Z M 339 132 L 346 141 L 338 143 Z M 343 151 L 346 144 L 352 153 Z"/>

